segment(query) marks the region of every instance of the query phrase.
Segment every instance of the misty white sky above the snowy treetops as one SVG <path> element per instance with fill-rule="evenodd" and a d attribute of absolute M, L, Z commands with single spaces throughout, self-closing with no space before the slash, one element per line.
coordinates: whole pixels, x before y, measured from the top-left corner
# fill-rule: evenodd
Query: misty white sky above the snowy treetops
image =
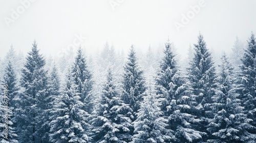
<path fill-rule="evenodd" d="M 113 9 L 110 2 L 119 5 Z M 199 0 L 36 0 L 8 27 L 6 17 L 12 18 L 12 9 L 17 11 L 23 5 L 20 1 L 1 0 L 0 57 L 5 56 L 11 44 L 16 51 L 27 54 L 34 39 L 41 53 L 56 56 L 73 43 L 75 35 L 87 37 L 81 45 L 88 53 L 101 49 L 106 41 L 125 51 L 131 44 L 142 50 L 149 44 L 157 48 L 169 37 L 178 52 L 185 55 L 189 44 L 197 42 L 199 32 L 209 49 L 229 52 L 236 36 L 245 41 L 251 31 L 256 32 L 253 0 L 206 0 L 199 13 L 178 32 L 175 21 L 182 23 L 182 14 L 186 15 L 190 6 L 198 3 Z"/>

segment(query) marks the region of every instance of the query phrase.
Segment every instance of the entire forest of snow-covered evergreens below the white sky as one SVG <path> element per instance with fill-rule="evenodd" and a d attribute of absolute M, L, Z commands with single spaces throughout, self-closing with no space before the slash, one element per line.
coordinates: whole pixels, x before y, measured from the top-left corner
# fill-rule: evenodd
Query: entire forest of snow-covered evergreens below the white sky
<path fill-rule="evenodd" d="M 256 142 L 254 34 L 232 50 L 216 64 L 202 34 L 184 64 L 169 40 L 143 57 L 106 43 L 94 59 L 81 47 L 53 60 L 36 41 L 26 56 L 11 46 L 0 142 Z"/>

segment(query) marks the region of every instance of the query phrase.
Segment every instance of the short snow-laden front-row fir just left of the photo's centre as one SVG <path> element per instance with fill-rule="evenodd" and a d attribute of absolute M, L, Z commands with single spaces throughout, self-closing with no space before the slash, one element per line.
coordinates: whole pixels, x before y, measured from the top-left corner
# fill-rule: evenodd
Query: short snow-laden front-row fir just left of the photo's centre
<path fill-rule="evenodd" d="M 114 84 L 112 70 L 109 68 L 98 116 L 92 121 L 95 126 L 93 129 L 95 142 L 126 142 L 132 138 L 128 134 L 132 127 L 131 120 L 123 115 L 125 111 L 131 109 L 122 102 Z"/>

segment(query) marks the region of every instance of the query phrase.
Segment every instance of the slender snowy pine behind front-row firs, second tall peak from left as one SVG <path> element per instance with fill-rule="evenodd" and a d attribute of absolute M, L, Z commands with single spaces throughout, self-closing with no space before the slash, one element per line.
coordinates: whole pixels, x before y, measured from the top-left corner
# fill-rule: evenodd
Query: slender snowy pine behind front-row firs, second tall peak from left
<path fill-rule="evenodd" d="M 84 110 L 92 113 L 93 101 L 92 101 L 92 74 L 88 69 L 86 58 L 82 53 L 81 47 L 77 51 L 75 63 L 72 67 L 72 76 L 74 77 L 75 84 L 77 85 L 77 91 L 81 96 L 80 101 L 86 103 Z"/>

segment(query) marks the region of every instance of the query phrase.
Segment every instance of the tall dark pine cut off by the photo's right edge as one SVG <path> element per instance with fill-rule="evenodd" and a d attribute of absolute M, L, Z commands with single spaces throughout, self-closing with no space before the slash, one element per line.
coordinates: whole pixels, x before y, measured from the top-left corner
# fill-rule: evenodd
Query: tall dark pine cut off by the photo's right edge
<path fill-rule="evenodd" d="M 256 127 L 256 43 L 253 33 L 247 42 L 247 48 L 241 59 L 242 73 L 238 78 L 241 94 L 239 99 L 242 100 L 242 106 L 246 109 L 245 114 L 253 120 L 252 125 Z M 255 130 L 250 132 L 256 134 Z"/>

